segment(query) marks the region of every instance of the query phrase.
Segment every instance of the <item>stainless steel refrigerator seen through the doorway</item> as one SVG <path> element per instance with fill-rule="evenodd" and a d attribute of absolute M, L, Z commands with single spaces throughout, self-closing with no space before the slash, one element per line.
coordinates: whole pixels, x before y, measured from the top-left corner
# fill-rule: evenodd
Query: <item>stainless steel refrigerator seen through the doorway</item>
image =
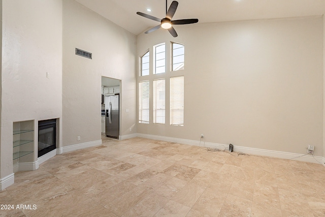
<path fill-rule="evenodd" d="M 107 137 L 118 139 L 119 116 L 119 95 L 105 96 L 105 134 Z"/>

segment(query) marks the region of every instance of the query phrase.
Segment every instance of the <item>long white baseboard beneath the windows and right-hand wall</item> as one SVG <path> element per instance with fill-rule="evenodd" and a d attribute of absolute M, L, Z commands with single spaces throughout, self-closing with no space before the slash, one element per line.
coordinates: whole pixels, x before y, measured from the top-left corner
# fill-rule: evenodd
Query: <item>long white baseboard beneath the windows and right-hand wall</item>
<path fill-rule="evenodd" d="M 188 140 L 188 139 L 179 139 L 179 138 L 172 138 L 172 137 L 166 137 L 166 136 L 156 136 L 156 135 L 149 135 L 149 134 L 137 134 L 138 137 L 147 138 L 147 139 L 155 139 L 155 140 L 161 140 L 166 142 L 175 142 L 175 143 L 181 143 L 181 144 L 187 144 L 187 145 L 196 145 L 196 146 L 203 146 L 210 148 L 219 148 L 221 150 L 226 149 L 228 150 L 229 145 L 225 144 L 218 144 L 218 143 L 211 143 L 211 142 L 201 142 L 196 140 Z M 304 161 L 304 162 L 310 162 L 310 163 L 317 163 L 320 162 L 322 164 L 325 163 L 325 158 L 318 157 L 318 156 L 310 156 L 299 153 L 290 153 L 290 152 L 283 152 L 283 151 L 272 151 L 272 150 L 266 150 L 266 149 L 258 149 L 258 148 L 250 148 L 250 147 L 241 147 L 241 146 L 234 146 L 234 151 L 236 152 L 243 152 L 246 154 L 254 154 L 258 156 L 265 156 L 265 157 L 272 157 L 272 158 L 281 158 L 281 159 L 293 159 L 296 161 Z M 315 160 L 315 159 L 317 160 Z M 325 166 L 325 165 L 324 165 Z"/>

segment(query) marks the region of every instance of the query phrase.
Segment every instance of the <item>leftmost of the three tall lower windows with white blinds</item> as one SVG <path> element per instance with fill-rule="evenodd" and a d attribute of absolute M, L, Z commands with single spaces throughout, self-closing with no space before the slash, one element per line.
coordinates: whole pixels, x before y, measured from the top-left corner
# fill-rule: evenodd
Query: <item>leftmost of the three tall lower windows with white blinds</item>
<path fill-rule="evenodd" d="M 139 82 L 139 123 L 149 123 L 149 81 Z"/>

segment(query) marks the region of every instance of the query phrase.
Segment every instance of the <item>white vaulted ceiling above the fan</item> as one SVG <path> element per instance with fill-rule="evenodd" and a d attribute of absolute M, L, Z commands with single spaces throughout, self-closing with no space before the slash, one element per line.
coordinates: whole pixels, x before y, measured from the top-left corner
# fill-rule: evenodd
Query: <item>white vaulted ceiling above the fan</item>
<path fill-rule="evenodd" d="M 159 22 L 136 14 L 164 18 L 166 0 L 76 0 L 90 10 L 139 35 Z M 168 0 L 168 7 L 172 0 Z M 325 0 L 178 0 L 176 19 L 198 18 L 199 23 L 323 15 Z M 151 12 L 147 12 L 147 8 Z M 195 25 L 195 24 L 191 24 Z"/>

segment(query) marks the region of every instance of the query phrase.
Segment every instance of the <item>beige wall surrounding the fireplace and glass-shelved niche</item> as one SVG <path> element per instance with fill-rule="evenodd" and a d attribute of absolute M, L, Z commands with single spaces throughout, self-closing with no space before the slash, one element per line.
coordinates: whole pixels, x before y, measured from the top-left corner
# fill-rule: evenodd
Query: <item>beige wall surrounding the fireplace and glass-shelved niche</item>
<path fill-rule="evenodd" d="M 62 2 L 2 4 L 0 173 L 5 177 L 13 172 L 13 122 L 34 120 L 37 130 L 39 120 L 62 117 Z"/>

